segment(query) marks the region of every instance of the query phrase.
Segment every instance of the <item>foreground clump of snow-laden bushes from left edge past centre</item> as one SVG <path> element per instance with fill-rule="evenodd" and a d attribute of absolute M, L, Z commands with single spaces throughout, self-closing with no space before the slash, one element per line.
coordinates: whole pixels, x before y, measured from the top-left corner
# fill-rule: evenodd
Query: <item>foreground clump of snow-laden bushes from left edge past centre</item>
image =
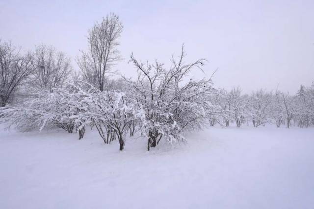
<path fill-rule="evenodd" d="M 184 131 L 205 127 L 209 116 L 222 111 L 211 103 L 217 93 L 210 79 L 188 79 L 191 70 L 202 70 L 205 60 L 184 63 L 182 49 L 179 61 L 172 59 L 169 70 L 162 64 L 144 64 L 133 55 L 131 62 L 138 77 L 107 79 L 105 88 L 75 81 L 64 88 L 41 91 L 19 106 L 1 108 L 1 121 L 22 131 L 58 127 L 69 133 L 78 131 L 83 138 L 86 126 L 95 127 L 105 143 L 117 139 L 120 150 L 125 136 L 140 131 L 147 136 L 147 149 L 161 139 L 172 143 L 184 141 Z"/>

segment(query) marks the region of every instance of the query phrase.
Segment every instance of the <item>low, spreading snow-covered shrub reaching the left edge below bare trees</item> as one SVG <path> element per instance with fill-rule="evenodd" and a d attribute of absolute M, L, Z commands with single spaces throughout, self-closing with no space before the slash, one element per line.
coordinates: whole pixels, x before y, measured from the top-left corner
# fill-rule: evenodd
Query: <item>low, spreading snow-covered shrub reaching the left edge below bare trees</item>
<path fill-rule="evenodd" d="M 71 90 L 53 89 L 51 93 L 42 91 L 37 98 L 26 101 L 19 107 L 1 108 L 1 121 L 9 126 L 14 125 L 22 131 L 45 126 L 62 128 L 69 133 L 75 130 L 73 115 L 77 110 L 69 105 Z"/>

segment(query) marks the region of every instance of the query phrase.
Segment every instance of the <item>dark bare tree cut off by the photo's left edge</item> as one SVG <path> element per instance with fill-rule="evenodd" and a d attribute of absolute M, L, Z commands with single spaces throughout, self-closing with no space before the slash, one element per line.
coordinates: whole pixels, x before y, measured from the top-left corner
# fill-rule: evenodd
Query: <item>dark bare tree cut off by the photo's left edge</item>
<path fill-rule="evenodd" d="M 0 43 L 0 107 L 4 107 L 13 93 L 33 72 L 32 55 L 22 56 L 10 42 Z"/>

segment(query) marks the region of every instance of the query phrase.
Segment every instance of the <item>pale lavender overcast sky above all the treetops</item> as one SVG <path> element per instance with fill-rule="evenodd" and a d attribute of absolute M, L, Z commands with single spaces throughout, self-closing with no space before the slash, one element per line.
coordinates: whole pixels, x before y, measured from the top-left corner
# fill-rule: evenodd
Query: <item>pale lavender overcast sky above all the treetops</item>
<path fill-rule="evenodd" d="M 187 60 L 206 58 L 205 74 L 219 88 L 295 93 L 314 81 L 314 0 L 0 0 L 0 39 L 33 49 L 53 45 L 75 59 L 88 29 L 110 12 L 124 30 L 117 66 L 126 76 L 131 52 L 169 63 L 184 43 Z"/>

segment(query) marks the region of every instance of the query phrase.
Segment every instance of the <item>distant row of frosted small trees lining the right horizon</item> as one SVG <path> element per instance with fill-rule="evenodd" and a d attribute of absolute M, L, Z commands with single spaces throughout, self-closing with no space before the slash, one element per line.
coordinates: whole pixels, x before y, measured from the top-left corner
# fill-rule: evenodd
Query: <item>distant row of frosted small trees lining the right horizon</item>
<path fill-rule="evenodd" d="M 288 128 L 291 125 L 301 128 L 314 125 L 314 83 L 310 87 L 301 85 L 295 95 L 264 90 L 248 95 L 234 88 L 230 92 L 221 91 L 218 101 L 224 114 L 216 117 L 215 122 L 225 126 L 229 126 L 230 121 L 237 127 L 244 122 L 251 122 L 254 127 L 266 123 Z"/>

